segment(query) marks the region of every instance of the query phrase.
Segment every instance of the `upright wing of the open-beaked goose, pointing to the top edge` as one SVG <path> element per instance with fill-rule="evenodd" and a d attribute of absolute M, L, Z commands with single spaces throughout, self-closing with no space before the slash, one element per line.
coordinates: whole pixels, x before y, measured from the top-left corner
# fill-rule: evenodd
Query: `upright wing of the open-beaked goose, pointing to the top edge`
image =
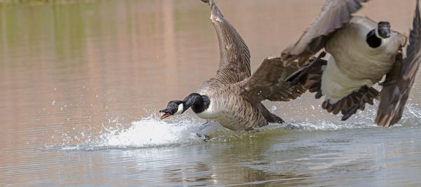
<path fill-rule="evenodd" d="M 210 0 L 208 3 L 211 10 L 210 20 L 215 27 L 220 47 L 220 64 L 215 78 L 225 84 L 243 81 L 251 74 L 248 47 L 236 29 L 225 20 L 215 2 Z"/>

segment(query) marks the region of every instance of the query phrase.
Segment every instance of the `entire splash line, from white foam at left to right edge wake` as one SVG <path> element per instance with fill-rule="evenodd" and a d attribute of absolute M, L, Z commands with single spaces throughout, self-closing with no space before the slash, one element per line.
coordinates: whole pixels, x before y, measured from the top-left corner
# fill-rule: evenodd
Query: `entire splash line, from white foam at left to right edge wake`
<path fill-rule="evenodd" d="M 416 104 L 408 104 L 402 120 L 392 127 L 402 127 L 408 125 L 420 125 L 421 110 L 417 109 Z M 272 107 L 274 109 L 275 107 Z M 119 125 L 116 127 L 102 125 L 100 136 L 92 138 L 88 132 L 80 132 L 72 139 L 89 137 L 84 143 L 71 144 L 69 139 L 63 140 L 61 146 L 50 146 L 47 148 L 58 148 L 61 151 L 94 151 L 103 149 L 125 149 L 125 148 L 149 148 L 160 146 L 180 146 L 186 144 L 202 144 L 203 138 L 198 137 L 196 133 L 208 134 L 211 141 L 232 141 L 241 140 L 267 134 L 283 134 L 302 131 L 319 130 L 344 130 L 375 128 L 374 123 L 375 107 L 368 107 L 366 111 L 360 111 L 352 118 L 346 121 L 340 120 L 295 120 L 283 124 L 269 124 L 261 127 L 253 133 L 250 132 L 232 132 L 224 129 L 218 123 L 210 123 L 203 128 L 205 120 L 197 119 L 193 113 L 187 113 L 182 116 L 174 116 L 168 120 L 160 120 L 156 113 L 152 113 L 147 118 L 133 121 L 128 125 Z M 329 114 L 330 115 L 330 114 Z M 336 117 L 336 116 L 334 116 Z M 110 120 L 110 125 L 113 121 Z M 380 128 L 380 127 L 379 127 Z"/>

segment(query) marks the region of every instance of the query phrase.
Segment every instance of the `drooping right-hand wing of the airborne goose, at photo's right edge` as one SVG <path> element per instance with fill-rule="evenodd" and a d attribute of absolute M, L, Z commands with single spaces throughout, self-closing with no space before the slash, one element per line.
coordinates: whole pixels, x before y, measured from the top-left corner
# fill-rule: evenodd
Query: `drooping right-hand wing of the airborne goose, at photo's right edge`
<path fill-rule="evenodd" d="M 406 55 L 405 60 L 402 60 L 402 55 L 399 53 L 394 68 L 387 74 L 385 82 L 382 83 L 380 106 L 375 118 L 377 125 L 388 127 L 401 119 L 403 109 L 408 101 L 410 88 L 412 88 L 418 67 L 420 67 L 421 18 L 418 0 Z"/>

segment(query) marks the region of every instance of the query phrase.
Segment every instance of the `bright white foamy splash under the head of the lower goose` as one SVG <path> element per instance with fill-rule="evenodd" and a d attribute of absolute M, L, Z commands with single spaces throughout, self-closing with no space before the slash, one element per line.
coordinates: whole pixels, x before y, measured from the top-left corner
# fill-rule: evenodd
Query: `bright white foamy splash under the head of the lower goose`
<path fill-rule="evenodd" d="M 204 120 L 190 117 L 191 115 L 174 116 L 169 120 L 160 120 L 156 113 L 147 118 L 133 121 L 128 127 L 102 125 L 100 136 L 87 139 L 81 144 L 71 144 L 74 137 L 63 140 L 61 146 L 46 146 L 60 151 L 95 151 L 104 149 L 149 148 L 160 146 L 180 146 L 185 144 L 200 144 L 203 137 L 200 134 L 211 134 L 224 130 L 218 123 L 209 123 L 203 128 Z M 86 132 L 81 132 L 86 137 Z M 71 139 L 71 140 L 69 140 Z"/>

